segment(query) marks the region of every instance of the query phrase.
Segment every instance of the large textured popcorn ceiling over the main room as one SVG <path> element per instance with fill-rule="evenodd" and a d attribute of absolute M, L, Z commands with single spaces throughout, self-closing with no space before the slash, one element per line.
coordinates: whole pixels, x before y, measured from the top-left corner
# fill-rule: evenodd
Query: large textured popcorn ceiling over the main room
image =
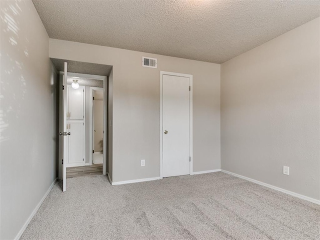
<path fill-rule="evenodd" d="M 32 0 L 50 38 L 222 63 L 320 15 L 320 0 Z"/>

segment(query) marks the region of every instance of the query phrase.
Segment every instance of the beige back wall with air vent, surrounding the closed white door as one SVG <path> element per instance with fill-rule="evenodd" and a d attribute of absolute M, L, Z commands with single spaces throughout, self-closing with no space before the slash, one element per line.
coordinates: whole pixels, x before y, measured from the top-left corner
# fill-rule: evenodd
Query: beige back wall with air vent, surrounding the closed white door
<path fill-rule="evenodd" d="M 193 171 L 220 168 L 219 64 L 57 39 L 49 55 L 113 66 L 112 181 L 159 176 L 160 70 L 193 75 Z M 156 57 L 157 69 L 142 56 Z"/>

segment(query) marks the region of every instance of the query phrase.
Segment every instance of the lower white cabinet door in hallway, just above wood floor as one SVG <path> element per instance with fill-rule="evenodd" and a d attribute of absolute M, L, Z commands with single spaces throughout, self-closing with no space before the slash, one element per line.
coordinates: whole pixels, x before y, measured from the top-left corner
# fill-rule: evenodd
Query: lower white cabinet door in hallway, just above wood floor
<path fill-rule="evenodd" d="M 72 121 L 67 123 L 68 135 L 68 166 L 74 163 L 83 163 L 83 121 Z M 79 164 L 76 164 L 79 165 Z"/>

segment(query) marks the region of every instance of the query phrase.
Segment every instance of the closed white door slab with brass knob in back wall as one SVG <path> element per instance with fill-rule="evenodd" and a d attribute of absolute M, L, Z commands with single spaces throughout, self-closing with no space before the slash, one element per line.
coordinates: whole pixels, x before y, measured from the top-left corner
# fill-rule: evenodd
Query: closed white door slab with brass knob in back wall
<path fill-rule="evenodd" d="M 190 79 L 163 74 L 162 176 L 190 174 Z M 167 131 L 167 133 L 165 133 Z"/>

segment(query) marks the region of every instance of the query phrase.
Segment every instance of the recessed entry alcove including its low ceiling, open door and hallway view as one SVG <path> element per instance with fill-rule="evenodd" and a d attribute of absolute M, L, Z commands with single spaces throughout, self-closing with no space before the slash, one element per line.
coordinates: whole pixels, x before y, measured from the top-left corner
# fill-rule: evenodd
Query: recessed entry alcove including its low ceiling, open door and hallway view
<path fill-rule="evenodd" d="M 60 79 L 58 178 L 65 191 L 66 178 L 107 174 L 107 93 L 112 66 L 51 61 Z"/>

